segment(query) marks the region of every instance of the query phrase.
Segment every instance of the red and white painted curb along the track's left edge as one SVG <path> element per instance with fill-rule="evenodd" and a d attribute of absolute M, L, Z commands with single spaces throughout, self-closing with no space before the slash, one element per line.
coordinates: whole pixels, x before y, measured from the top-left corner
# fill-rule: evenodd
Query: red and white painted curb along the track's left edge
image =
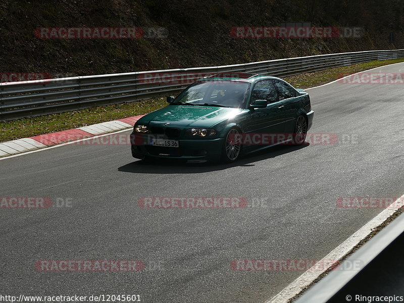
<path fill-rule="evenodd" d="M 0 143 L 0 158 L 133 127 L 143 115 Z"/>

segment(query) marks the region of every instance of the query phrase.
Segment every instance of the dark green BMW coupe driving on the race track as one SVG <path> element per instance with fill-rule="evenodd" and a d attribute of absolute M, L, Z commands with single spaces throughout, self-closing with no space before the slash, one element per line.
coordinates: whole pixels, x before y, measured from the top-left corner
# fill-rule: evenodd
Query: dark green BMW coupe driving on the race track
<path fill-rule="evenodd" d="M 254 74 L 205 77 L 167 102 L 134 125 L 134 158 L 233 162 L 269 146 L 304 143 L 314 117 L 306 91 Z"/>

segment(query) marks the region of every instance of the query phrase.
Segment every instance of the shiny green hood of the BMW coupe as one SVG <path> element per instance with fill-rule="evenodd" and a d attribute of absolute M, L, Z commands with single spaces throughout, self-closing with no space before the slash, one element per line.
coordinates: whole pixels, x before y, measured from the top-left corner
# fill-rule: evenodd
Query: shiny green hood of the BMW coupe
<path fill-rule="evenodd" d="M 136 124 L 164 124 L 177 127 L 211 127 L 220 121 L 230 119 L 242 109 L 170 105 L 140 118 Z"/>

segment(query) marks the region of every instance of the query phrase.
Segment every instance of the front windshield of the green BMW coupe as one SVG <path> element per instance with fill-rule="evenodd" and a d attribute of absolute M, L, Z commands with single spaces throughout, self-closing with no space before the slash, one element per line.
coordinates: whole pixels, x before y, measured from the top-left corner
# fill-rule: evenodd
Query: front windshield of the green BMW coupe
<path fill-rule="evenodd" d="M 248 87 L 248 82 L 198 81 L 182 91 L 173 104 L 244 108 Z"/>

